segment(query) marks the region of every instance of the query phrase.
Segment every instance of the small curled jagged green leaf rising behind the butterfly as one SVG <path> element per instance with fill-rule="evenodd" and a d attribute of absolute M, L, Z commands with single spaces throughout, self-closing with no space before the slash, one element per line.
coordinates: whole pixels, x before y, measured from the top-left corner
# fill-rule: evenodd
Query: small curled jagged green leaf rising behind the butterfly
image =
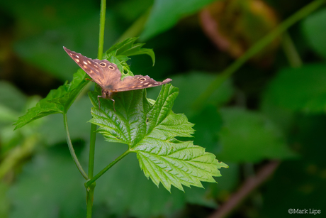
<path fill-rule="evenodd" d="M 121 58 L 123 56 L 150 55 L 150 58 L 152 58 L 152 62 L 154 65 L 155 55 L 153 50 L 150 48 L 142 48 L 142 45 L 145 45 L 145 43 L 135 43 L 135 40 L 137 40 L 137 37 L 127 38 L 120 43 L 116 43 L 109 50 L 106 51 L 106 57 L 110 56 L 109 54 L 112 52 L 115 52 L 116 56 L 120 55 Z"/>

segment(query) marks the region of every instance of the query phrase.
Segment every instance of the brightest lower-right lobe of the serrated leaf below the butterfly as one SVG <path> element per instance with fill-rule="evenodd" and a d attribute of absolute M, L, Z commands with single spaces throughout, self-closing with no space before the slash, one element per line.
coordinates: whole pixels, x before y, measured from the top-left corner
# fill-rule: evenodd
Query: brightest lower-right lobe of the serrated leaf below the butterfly
<path fill-rule="evenodd" d="M 221 176 L 218 168 L 225 163 L 218 163 L 213 153 L 205 148 L 194 146 L 192 141 L 164 141 L 146 137 L 135 148 L 140 168 L 150 177 L 155 185 L 162 185 L 170 190 L 171 185 L 184 190 L 182 185 L 202 187 L 202 182 L 215 182 L 213 176 Z"/>

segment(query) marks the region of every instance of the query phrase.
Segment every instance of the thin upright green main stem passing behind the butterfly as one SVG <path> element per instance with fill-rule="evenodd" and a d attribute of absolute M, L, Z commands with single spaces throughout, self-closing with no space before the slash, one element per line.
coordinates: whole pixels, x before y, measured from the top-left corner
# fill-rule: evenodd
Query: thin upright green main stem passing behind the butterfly
<path fill-rule="evenodd" d="M 105 21 L 106 21 L 106 0 L 101 0 L 99 51 L 97 53 L 97 58 L 99 58 L 99 60 L 101 60 L 103 56 Z M 91 124 L 91 138 L 89 143 L 89 179 L 93 178 L 93 174 L 94 174 L 95 140 L 96 140 L 96 125 Z M 95 182 L 91 186 L 86 187 L 86 198 L 87 198 L 86 217 L 87 218 L 91 218 L 91 212 L 92 212 L 93 200 L 94 200 L 94 188 L 95 188 Z"/>

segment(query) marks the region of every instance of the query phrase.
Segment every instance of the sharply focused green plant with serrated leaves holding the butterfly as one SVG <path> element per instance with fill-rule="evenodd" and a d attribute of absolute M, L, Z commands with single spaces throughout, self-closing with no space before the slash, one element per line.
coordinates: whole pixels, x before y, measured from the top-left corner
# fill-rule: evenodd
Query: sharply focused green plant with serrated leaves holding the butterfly
<path fill-rule="evenodd" d="M 102 1 L 101 31 L 99 40 L 99 56 L 103 51 L 103 26 L 105 16 L 105 1 Z M 104 7 L 103 7 L 104 5 Z M 128 56 L 150 55 L 154 62 L 154 53 L 151 49 L 142 48 L 141 43 L 135 43 L 137 38 L 127 38 L 108 49 L 103 56 L 110 62 L 118 65 L 123 75 L 133 75 L 127 64 Z M 225 163 L 218 162 L 213 153 L 204 148 L 193 145 L 192 141 L 180 141 L 176 137 L 191 137 L 193 129 L 184 114 L 174 114 L 172 107 L 179 89 L 172 85 L 162 86 L 156 100 L 147 99 L 146 90 L 139 89 L 116 94 L 116 111 L 111 101 L 103 101 L 101 109 L 97 96 L 101 93 L 99 87 L 89 93 L 91 104 L 91 144 L 89 150 L 89 170 L 85 170 L 79 163 L 70 139 L 67 112 L 77 99 L 81 90 L 89 83 L 89 77 L 82 70 L 78 70 L 72 82 L 66 82 L 58 89 L 52 90 L 45 99 L 41 99 L 35 107 L 19 117 L 16 128 L 21 128 L 31 121 L 35 121 L 50 114 L 62 114 L 64 129 L 67 134 L 69 151 L 79 172 L 85 178 L 87 192 L 87 217 L 91 217 L 94 199 L 95 181 L 106 170 L 118 163 L 129 153 L 136 153 L 140 168 L 147 178 L 151 178 L 155 185 L 162 185 L 171 190 L 174 185 L 184 190 L 182 185 L 203 187 L 201 182 L 215 182 L 213 176 L 220 176 L 220 168 L 228 168 Z M 99 129 L 96 130 L 96 126 Z M 128 150 L 116 160 L 108 164 L 98 174 L 94 175 L 95 134 L 101 133 L 106 141 L 125 143 Z M 114 185 L 114 184 L 112 184 Z"/>

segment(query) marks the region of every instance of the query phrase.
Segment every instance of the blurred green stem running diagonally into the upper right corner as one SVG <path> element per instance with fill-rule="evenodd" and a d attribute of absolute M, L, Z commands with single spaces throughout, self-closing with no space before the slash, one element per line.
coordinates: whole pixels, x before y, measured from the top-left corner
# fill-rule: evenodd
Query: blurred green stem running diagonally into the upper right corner
<path fill-rule="evenodd" d="M 279 26 L 277 26 L 274 31 L 267 34 L 259 40 L 256 44 L 249 48 L 247 52 L 238 58 L 235 62 L 232 63 L 229 67 L 227 67 L 220 75 L 218 75 L 213 82 L 210 82 L 205 92 L 203 92 L 194 102 L 192 107 L 194 109 L 201 109 L 202 105 L 206 102 L 206 100 L 210 97 L 210 95 L 218 89 L 220 85 L 227 80 L 236 70 L 238 70 L 247 60 L 252 58 L 254 55 L 259 53 L 266 45 L 269 45 L 275 38 L 279 37 L 281 33 L 286 31 L 290 26 L 293 26 L 294 23 L 300 21 L 302 18 L 305 18 L 310 13 L 318 9 L 322 4 L 325 3 L 325 0 L 316 0 L 303 7 L 296 13 L 294 13 L 291 17 L 287 18 L 283 21 Z"/>

